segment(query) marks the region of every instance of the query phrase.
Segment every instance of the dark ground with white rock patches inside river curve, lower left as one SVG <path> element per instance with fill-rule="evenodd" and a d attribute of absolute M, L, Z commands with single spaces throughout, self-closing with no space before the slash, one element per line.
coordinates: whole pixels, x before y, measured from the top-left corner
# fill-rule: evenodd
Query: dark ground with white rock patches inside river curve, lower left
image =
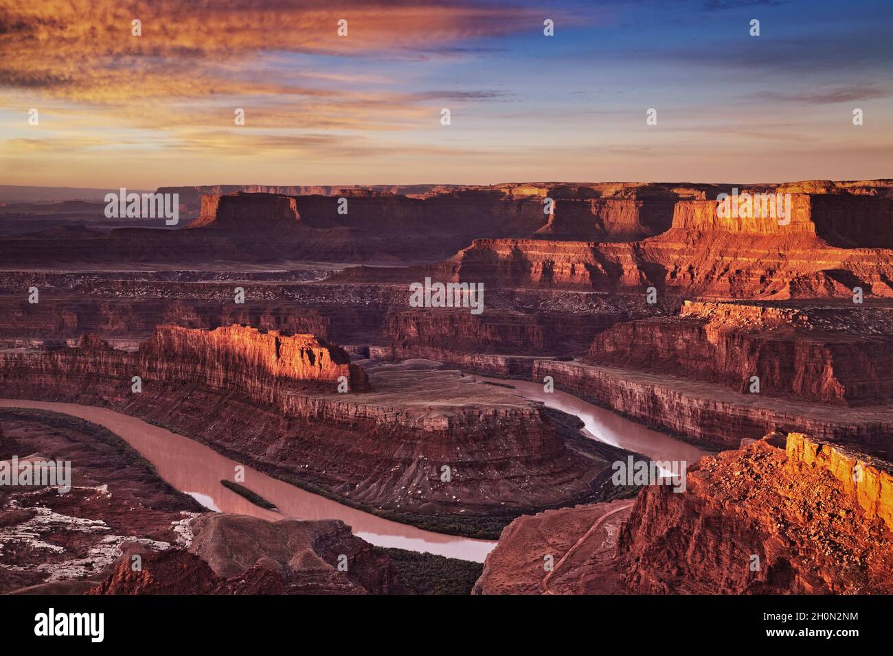
<path fill-rule="evenodd" d="M 71 462 L 71 490 L 0 486 L 0 593 L 84 592 L 123 550 L 165 551 L 203 511 L 103 428 L 53 412 L 0 410 L 0 460 Z"/>

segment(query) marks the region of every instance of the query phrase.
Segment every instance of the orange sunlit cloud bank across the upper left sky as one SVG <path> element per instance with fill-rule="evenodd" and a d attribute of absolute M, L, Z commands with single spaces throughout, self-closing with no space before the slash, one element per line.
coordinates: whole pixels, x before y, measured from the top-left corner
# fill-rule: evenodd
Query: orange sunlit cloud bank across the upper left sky
<path fill-rule="evenodd" d="M 342 18 L 346 37 L 337 33 Z M 140 37 L 131 35 L 134 19 L 142 21 Z M 335 9 L 323 0 L 6 0 L 0 7 L 0 80 L 95 102 L 253 94 L 263 85 L 238 73 L 261 54 L 437 54 L 539 22 L 529 9 L 484 2 L 355 0 Z M 289 91 L 283 85 L 276 92 Z"/>

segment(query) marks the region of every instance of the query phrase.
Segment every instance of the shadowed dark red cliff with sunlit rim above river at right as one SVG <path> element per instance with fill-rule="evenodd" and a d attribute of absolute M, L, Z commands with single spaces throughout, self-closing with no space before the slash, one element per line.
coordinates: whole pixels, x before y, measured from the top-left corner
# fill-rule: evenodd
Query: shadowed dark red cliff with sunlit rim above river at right
<path fill-rule="evenodd" d="M 747 392 L 838 404 L 893 397 L 893 309 L 690 303 L 678 316 L 598 334 L 588 361 L 690 377 Z"/>

